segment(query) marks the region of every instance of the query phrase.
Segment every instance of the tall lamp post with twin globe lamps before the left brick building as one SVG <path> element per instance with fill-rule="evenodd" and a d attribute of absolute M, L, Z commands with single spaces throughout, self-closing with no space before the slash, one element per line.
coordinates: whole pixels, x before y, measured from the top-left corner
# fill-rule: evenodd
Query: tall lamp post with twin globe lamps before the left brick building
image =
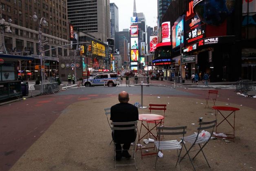
<path fill-rule="evenodd" d="M 33 21 L 34 22 L 37 22 L 37 20 L 38 20 L 38 16 L 36 15 L 36 13 L 34 13 L 34 15 L 33 15 Z M 43 66 L 43 55 L 42 55 L 42 31 L 41 31 L 41 27 L 42 27 L 42 25 L 43 26 L 46 26 L 46 24 L 47 24 L 47 22 L 46 22 L 46 20 L 45 20 L 45 18 L 44 17 L 42 17 L 41 18 L 41 20 L 40 20 L 40 23 L 39 23 L 39 31 L 38 31 L 38 33 L 39 33 L 39 58 L 40 58 L 40 74 L 41 74 L 41 79 L 42 79 L 42 83 L 44 83 L 45 82 L 45 80 L 44 80 L 44 66 Z"/>

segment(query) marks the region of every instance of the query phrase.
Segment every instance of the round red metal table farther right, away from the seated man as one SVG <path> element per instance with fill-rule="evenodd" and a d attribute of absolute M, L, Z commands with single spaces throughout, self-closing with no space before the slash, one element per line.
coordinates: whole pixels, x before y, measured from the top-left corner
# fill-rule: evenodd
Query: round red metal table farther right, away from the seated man
<path fill-rule="evenodd" d="M 214 109 L 215 110 L 215 117 L 216 117 L 216 120 L 217 120 L 217 122 L 216 122 L 216 134 L 218 134 L 218 132 L 217 132 L 217 127 L 221 124 L 221 123 L 223 123 L 223 121 L 227 121 L 227 123 L 229 123 L 229 125 L 233 128 L 233 134 L 226 134 L 226 135 L 230 135 L 230 136 L 233 136 L 233 137 L 227 137 L 227 138 L 232 138 L 232 139 L 234 139 L 235 138 L 235 118 L 236 118 L 236 111 L 237 110 L 240 110 L 240 109 L 238 109 L 238 108 L 236 108 L 236 107 L 229 107 L 229 106 L 214 106 L 214 107 L 212 107 L 212 109 Z M 228 114 L 227 115 L 227 117 L 225 117 L 224 115 L 223 115 L 223 111 L 230 111 L 230 114 Z M 218 113 L 220 113 L 221 114 L 221 116 L 223 116 L 223 120 L 221 121 L 221 122 L 219 122 L 218 123 Z M 231 115 L 231 114 L 234 114 L 234 123 L 233 123 L 233 125 L 227 120 L 227 118 Z M 216 136 L 216 137 L 218 137 L 218 136 Z"/>

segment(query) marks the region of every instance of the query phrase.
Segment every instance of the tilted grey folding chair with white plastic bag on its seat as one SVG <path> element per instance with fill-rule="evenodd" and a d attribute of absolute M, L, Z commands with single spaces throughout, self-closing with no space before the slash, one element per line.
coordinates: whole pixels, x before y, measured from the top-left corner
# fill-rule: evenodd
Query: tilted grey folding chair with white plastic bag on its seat
<path fill-rule="evenodd" d="M 188 155 L 188 158 L 189 158 L 189 160 L 190 160 L 190 162 L 191 162 L 191 164 L 192 164 L 194 170 L 196 170 L 196 167 L 199 167 L 199 166 L 202 166 L 202 165 L 205 165 L 205 164 L 208 164 L 208 166 L 210 167 L 210 164 L 208 163 L 208 161 L 207 161 L 207 159 L 206 159 L 205 153 L 203 152 L 203 148 L 205 147 L 205 145 L 207 145 L 207 143 L 208 143 L 209 140 L 211 139 L 215 125 L 216 125 L 216 120 L 210 121 L 210 122 L 199 122 L 199 127 L 197 128 L 197 130 L 198 130 L 197 134 L 192 134 L 192 135 L 190 135 L 190 136 L 186 136 L 186 137 L 183 137 L 183 138 L 182 138 L 182 140 L 183 140 L 184 142 L 188 142 L 188 143 L 190 143 L 190 144 L 192 144 L 192 145 L 191 145 L 191 147 L 190 147 L 189 149 L 187 149 L 186 145 L 184 144 L 186 153 L 185 153 L 185 155 L 181 158 L 181 160 L 183 160 L 183 158 L 184 158 L 186 155 Z M 209 136 L 209 138 L 203 138 L 202 136 L 199 136 L 199 134 L 200 134 L 200 132 L 201 132 L 202 130 L 209 131 L 209 133 L 211 134 L 211 135 Z M 203 143 L 203 146 L 200 145 L 201 143 Z M 199 145 L 199 149 L 195 149 L 195 150 L 193 149 L 193 150 L 192 150 L 192 147 L 194 147 L 196 144 Z M 192 162 L 192 160 L 191 160 L 191 158 L 190 158 L 190 154 L 189 154 L 190 152 L 193 152 L 193 151 L 198 151 L 198 152 L 195 154 L 195 156 L 192 158 L 192 160 L 194 160 L 194 158 L 196 158 L 196 156 L 197 156 L 200 152 L 202 152 L 202 154 L 203 154 L 203 156 L 204 156 L 204 158 L 205 158 L 205 160 L 206 160 L 207 163 L 201 164 L 201 165 L 195 167 L 195 166 L 194 166 L 194 163 Z"/>

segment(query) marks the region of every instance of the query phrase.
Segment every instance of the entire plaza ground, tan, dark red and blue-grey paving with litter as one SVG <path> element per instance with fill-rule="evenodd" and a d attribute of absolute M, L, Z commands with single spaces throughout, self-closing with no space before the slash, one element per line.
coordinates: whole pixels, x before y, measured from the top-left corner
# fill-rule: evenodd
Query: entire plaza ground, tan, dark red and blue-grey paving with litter
<path fill-rule="evenodd" d="M 170 83 L 155 83 L 159 84 L 143 88 L 143 105 L 167 104 L 165 126 L 188 126 L 190 135 L 196 132 L 199 117 L 203 121 L 215 119 L 214 110 L 205 108 L 208 89 L 182 86 L 174 89 Z M 131 104 L 141 102 L 140 86 L 82 87 L 0 106 L 0 170 L 114 170 L 113 144 L 109 145 L 111 130 L 104 108 L 118 103 L 117 95 L 123 90 L 130 94 Z M 234 142 L 222 138 L 210 140 L 204 151 L 211 168 L 204 165 L 197 170 L 256 170 L 255 104 L 256 99 L 239 96 L 234 90 L 219 90 L 216 105 L 240 109 L 236 112 L 236 138 Z M 147 113 L 148 108 L 139 109 L 139 114 Z M 225 133 L 232 133 L 230 128 L 227 124 L 221 127 Z M 137 151 L 136 159 L 138 170 L 154 170 L 155 155 L 143 156 L 141 160 Z M 204 162 L 201 155 L 195 159 L 196 164 Z M 192 170 L 190 161 L 182 161 L 181 169 Z M 136 169 L 128 166 L 117 170 Z M 179 170 L 179 167 L 167 166 L 161 170 Z"/>

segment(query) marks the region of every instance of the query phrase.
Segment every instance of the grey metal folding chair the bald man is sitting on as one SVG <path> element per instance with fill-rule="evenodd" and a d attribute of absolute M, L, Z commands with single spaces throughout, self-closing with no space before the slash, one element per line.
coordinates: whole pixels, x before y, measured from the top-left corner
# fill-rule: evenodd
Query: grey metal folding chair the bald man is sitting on
<path fill-rule="evenodd" d="M 123 130 L 134 130 L 134 134 L 136 137 L 136 132 L 137 132 L 137 121 L 132 121 L 132 122 L 112 122 L 111 123 L 112 127 L 112 131 L 113 131 L 113 139 L 114 139 L 114 158 L 116 156 L 116 149 L 115 149 L 115 131 L 123 131 Z M 121 126 L 121 127 L 119 127 Z M 136 138 L 134 140 L 134 142 L 132 142 L 133 145 L 133 155 L 132 155 L 132 159 L 134 160 L 134 162 L 130 163 L 130 164 L 117 164 L 116 162 L 116 158 L 115 158 L 115 169 L 117 169 L 117 166 L 127 166 L 127 165 L 135 165 L 135 168 L 137 169 L 137 165 L 136 165 L 136 158 L 135 158 L 135 141 Z M 118 150 L 121 151 L 121 150 Z"/>

